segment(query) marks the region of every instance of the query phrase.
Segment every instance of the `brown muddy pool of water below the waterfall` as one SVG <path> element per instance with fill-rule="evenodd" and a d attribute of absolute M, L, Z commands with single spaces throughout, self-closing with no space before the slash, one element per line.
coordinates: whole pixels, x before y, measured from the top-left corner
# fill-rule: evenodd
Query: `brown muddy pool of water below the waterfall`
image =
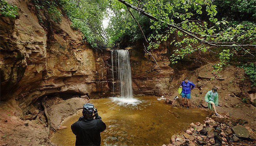
<path fill-rule="evenodd" d="M 158 101 L 155 96 L 135 98 L 136 101 L 118 100 L 115 97 L 90 99 L 107 125 L 101 133 L 101 145 L 168 144 L 173 134 L 186 130 L 192 122 L 202 123 L 208 114 L 198 108 L 171 107 L 163 100 Z M 51 141 L 59 146 L 74 146 L 76 137 L 70 127 L 80 116 L 82 110 L 65 119 L 61 126 L 67 128 L 57 130 Z"/>

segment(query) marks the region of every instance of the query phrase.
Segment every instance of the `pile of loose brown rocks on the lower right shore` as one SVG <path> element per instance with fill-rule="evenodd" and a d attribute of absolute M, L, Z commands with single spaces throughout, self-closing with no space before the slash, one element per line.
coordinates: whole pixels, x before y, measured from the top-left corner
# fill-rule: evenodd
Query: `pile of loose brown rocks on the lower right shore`
<path fill-rule="evenodd" d="M 213 115 L 204 123 L 191 123 L 180 135 L 172 135 L 167 146 L 255 146 L 255 127 L 247 123 L 226 115 Z"/>

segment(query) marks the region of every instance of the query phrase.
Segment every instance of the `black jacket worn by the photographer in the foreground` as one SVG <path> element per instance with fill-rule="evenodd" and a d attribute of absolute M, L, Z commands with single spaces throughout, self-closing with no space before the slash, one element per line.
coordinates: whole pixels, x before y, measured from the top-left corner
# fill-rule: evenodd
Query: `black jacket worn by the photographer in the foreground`
<path fill-rule="evenodd" d="M 72 132 L 76 135 L 76 146 L 100 146 L 101 132 L 106 129 L 106 124 L 101 119 L 84 119 L 80 117 L 71 125 Z"/>

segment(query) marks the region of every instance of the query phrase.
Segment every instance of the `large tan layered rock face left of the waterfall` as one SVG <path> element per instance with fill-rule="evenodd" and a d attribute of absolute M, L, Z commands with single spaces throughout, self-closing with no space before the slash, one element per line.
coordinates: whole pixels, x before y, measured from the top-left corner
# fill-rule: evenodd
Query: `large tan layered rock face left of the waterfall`
<path fill-rule="evenodd" d="M 1 100 L 15 98 L 26 111 L 38 97 L 53 93 L 108 97 L 110 54 L 94 51 L 63 17 L 52 30 L 40 25 L 34 6 L 10 0 L 19 18 L 1 17 Z M 51 34 L 49 34 L 49 32 Z"/>

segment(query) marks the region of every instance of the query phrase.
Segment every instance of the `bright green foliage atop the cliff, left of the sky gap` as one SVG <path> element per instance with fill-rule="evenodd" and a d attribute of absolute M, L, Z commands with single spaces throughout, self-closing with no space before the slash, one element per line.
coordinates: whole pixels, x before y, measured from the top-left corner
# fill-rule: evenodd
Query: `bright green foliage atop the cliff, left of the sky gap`
<path fill-rule="evenodd" d="M 106 0 L 107 1 L 107 0 Z M 95 49 L 108 41 L 102 27 L 106 15 L 105 0 L 60 0 L 59 3 L 72 21 L 72 27 L 83 33 L 83 38 Z"/>

